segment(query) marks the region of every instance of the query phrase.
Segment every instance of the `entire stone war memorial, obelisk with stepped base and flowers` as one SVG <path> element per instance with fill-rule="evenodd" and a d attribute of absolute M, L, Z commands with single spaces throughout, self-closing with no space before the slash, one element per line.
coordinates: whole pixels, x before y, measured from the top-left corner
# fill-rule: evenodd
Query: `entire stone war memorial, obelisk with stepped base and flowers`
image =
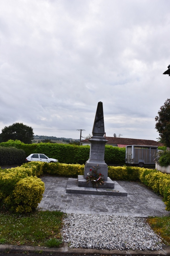
<path fill-rule="evenodd" d="M 108 177 L 108 166 L 104 160 L 107 140 L 104 134 L 103 103 L 98 102 L 84 175 L 78 175 L 78 179 L 69 178 L 66 193 L 127 196 L 127 192 Z"/>

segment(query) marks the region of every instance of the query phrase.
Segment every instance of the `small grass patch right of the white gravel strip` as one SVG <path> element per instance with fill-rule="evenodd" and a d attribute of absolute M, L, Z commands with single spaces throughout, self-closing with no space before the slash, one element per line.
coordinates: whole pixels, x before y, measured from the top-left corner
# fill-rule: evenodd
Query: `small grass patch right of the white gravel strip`
<path fill-rule="evenodd" d="M 166 245 L 170 244 L 170 217 L 150 217 L 147 222 L 156 234 L 161 236 Z"/>

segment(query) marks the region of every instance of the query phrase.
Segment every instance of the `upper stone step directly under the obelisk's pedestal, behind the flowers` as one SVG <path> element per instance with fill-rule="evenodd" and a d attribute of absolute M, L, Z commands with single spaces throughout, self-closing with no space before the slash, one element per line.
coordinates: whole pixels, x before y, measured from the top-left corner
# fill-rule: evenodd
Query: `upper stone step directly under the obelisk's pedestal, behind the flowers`
<path fill-rule="evenodd" d="M 108 177 L 108 179 L 102 185 L 97 183 L 97 186 L 98 188 L 114 188 L 114 182 Z M 86 181 L 83 175 L 78 175 L 78 187 L 93 187 L 93 184 L 91 181 Z"/>

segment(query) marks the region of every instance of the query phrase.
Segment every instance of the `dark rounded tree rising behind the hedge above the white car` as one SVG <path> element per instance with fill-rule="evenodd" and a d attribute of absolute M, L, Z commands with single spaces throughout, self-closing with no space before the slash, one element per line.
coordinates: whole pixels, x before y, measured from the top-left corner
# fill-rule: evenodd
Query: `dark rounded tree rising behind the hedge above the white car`
<path fill-rule="evenodd" d="M 25 144 L 31 144 L 34 139 L 33 128 L 23 123 L 13 123 L 10 126 L 5 126 L 0 134 L 1 141 L 20 140 Z"/>

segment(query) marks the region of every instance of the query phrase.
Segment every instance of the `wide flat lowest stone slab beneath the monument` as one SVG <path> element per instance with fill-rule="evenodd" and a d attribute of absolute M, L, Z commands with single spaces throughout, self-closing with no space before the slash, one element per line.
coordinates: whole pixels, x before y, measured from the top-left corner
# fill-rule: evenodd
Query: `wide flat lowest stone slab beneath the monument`
<path fill-rule="evenodd" d="M 80 176 L 80 175 L 79 175 Z M 84 179 L 85 180 L 85 179 Z M 86 183 L 86 180 L 85 180 Z M 78 187 L 78 180 L 69 178 L 66 193 L 86 194 L 86 195 L 107 195 L 107 196 L 127 196 L 127 192 L 116 182 L 109 182 L 107 185 L 114 185 L 114 188 L 95 188 L 95 187 Z"/>

